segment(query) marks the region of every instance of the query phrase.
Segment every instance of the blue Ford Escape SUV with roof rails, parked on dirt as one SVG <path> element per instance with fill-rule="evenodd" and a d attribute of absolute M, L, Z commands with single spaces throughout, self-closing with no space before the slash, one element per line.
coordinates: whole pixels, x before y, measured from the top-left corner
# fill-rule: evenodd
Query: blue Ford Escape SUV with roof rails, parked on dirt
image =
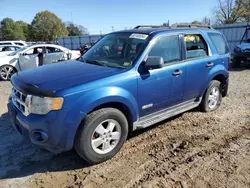
<path fill-rule="evenodd" d="M 229 49 L 211 27 L 138 26 L 107 34 L 78 60 L 12 76 L 14 127 L 50 151 L 90 163 L 113 157 L 128 132 L 227 95 Z"/>

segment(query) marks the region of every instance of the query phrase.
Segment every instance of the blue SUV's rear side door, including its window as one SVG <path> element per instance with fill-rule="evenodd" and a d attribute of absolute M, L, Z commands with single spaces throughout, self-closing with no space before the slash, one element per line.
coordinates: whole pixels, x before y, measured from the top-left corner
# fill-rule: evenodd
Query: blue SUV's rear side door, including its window
<path fill-rule="evenodd" d="M 209 56 L 209 48 L 201 34 L 184 35 L 186 55 L 186 83 L 184 101 L 201 97 L 208 83 L 208 73 L 214 65 L 214 57 Z"/>

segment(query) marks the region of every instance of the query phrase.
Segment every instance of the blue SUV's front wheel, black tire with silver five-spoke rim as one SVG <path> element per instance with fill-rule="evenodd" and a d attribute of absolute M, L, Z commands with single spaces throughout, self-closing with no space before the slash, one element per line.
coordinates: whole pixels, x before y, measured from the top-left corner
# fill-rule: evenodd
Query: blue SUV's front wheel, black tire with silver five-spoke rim
<path fill-rule="evenodd" d="M 107 132 L 112 130 L 114 124 L 113 131 Z M 107 125 L 110 125 L 110 128 Z M 117 132 L 120 132 L 120 137 Z M 74 147 L 88 163 L 97 164 L 116 155 L 126 141 L 127 135 L 128 121 L 125 115 L 114 108 L 103 108 L 86 116 L 77 131 Z M 113 138 L 116 139 L 112 140 Z"/>

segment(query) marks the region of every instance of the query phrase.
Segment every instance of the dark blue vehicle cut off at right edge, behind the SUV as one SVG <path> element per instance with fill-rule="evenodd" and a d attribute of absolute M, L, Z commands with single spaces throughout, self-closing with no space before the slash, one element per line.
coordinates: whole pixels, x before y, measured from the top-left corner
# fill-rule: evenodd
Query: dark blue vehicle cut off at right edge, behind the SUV
<path fill-rule="evenodd" d="M 234 48 L 233 67 L 250 64 L 250 39 Z"/>

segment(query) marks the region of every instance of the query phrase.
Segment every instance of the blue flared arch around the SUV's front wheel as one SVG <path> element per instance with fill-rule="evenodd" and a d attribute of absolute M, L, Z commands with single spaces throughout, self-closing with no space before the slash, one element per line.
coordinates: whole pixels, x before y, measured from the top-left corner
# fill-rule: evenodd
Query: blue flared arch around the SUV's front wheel
<path fill-rule="evenodd" d="M 114 90 L 115 89 L 115 90 Z M 116 91 L 116 93 L 112 93 Z M 85 117 L 101 108 L 116 108 L 124 113 L 128 120 L 129 131 L 133 130 L 133 122 L 138 120 L 138 107 L 135 97 L 128 91 L 118 87 L 99 88 L 87 92 L 74 102 L 68 112 L 66 124 L 71 126 L 68 132 L 67 148 L 71 148 L 79 127 Z"/>

